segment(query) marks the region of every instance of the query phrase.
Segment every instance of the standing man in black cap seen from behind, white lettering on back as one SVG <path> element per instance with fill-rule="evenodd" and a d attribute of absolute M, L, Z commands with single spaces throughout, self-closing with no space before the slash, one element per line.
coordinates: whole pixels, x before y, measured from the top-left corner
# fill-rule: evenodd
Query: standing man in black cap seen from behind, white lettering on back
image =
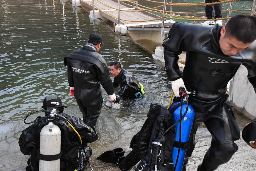
<path fill-rule="evenodd" d="M 102 45 L 102 36 L 92 33 L 83 48 L 64 58 L 70 93 L 83 113 L 83 122 L 89 126 L 96 125 L 101 112 L 100 84 L 108 93 L 110 102 L 116 99 L 107 63 L 98 53 Z"/>

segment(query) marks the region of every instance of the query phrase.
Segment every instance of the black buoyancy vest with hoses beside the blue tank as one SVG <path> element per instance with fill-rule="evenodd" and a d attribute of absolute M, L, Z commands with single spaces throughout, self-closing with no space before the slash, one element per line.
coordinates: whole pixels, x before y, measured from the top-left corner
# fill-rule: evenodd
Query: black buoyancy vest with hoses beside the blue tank
<path fill-rule="evenodd" d="M 136 171 L 150 169 L 172 171 L 172 146 L 175 128 L 164 135 L 164 131 L 173 125 L 171 112 L 164 106 L 152 104 L 141 130 L 132 138 L 130 148 L 133 150 L 120 162 L 120 169 L 131 169 L 140 160 Z"/>

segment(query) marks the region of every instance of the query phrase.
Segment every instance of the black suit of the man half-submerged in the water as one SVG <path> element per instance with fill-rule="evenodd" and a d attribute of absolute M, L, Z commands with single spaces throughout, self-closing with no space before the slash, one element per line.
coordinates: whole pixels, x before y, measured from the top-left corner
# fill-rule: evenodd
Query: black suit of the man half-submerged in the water
<path fill-rule="evenodd" d="M 114 87 L 120 86 L 119 95 L 120 97 L 135 97 L 135 94 L 141 92 L 139 82 L 133 75 L 122 69 L 117 77 L 114 78 L 113 82 Z"/>

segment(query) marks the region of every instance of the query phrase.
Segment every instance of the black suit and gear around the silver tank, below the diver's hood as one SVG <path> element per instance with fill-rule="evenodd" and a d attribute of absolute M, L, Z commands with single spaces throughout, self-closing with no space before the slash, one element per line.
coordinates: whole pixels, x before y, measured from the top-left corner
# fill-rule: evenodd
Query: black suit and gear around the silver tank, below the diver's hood
<path fill-rule="evenodd" d="M 74 126 L 76 131 L 80 134 L 83 145 L 87 142 L 94 142 L 98 139 L 98 135 L 93 126 L 87 126 L 83 123 L 80 118 L 69 116 L 62 113 L 66 119 L 68 119 Z M 43 117 L 37 117 L 35 123 L 41 120 Z M 22 131 L 19 138 L 20 151 L 25 155 L 30 155 L 27 171 L 38 171 L 39 170 L 39 147 L 40 147 L 40 131 L 47 125 L 48 119 L 39 121 L 36 124 L 30 125 L 28 128 Z M 86 166 L 87 160 L 83 153 L 82 146 L 79 142 L 78 136 L 75 131 L 70 127 L 67 121 L 64 119 L 55 117 L 54 122 L 61 130 L 61 165 L 62 171 L 73 171 L 77 169 L 82 170 Z M 86 147 L 86 146 L 85 146 Z M 92 150 L 88 147 L 85 149 L 86 156 L 89 158 L 92 154 Z M 56 159 L 55 159 L 56 160 Z"/>

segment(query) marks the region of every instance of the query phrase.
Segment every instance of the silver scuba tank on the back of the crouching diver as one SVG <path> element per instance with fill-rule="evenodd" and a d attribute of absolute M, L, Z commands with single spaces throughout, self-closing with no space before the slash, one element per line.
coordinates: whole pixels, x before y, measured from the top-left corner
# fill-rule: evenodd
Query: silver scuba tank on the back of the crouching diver
<path fill-rule="evenodd" d="M 54 109 L 51 114 L 53 112 L 55 113 Z M 60 171 L 60 153 L 61 130 L 53 122 L 49 122 L 40 132 L 39 171 Z M 55 158 L 58 159 L 54 160 Z"/>

